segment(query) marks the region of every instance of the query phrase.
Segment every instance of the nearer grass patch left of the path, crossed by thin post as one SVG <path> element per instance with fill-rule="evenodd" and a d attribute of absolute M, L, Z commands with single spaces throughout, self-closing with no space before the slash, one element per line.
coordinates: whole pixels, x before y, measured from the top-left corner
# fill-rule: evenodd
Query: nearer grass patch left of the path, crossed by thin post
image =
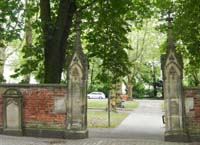
<path fill-rule="evenodd" d="M 111 128 L 117 127 L 127 116 L 128 113 L 111 112 Z M 108 112 L 106 111 L 88 111 L 89 128 L 107 128 Z"/>

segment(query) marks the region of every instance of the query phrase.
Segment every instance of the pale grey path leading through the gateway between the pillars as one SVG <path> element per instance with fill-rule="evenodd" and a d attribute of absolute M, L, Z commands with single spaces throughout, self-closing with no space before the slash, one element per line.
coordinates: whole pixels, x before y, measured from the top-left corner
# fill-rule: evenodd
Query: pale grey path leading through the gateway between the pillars
<path fill-rule="evenodd" d="M 115 129 L 89 129 L 89 136 L 124 139 L 163 140 L 164 124 L 161 110 L 163 100 L 136 100 L 139 107 Z"/>

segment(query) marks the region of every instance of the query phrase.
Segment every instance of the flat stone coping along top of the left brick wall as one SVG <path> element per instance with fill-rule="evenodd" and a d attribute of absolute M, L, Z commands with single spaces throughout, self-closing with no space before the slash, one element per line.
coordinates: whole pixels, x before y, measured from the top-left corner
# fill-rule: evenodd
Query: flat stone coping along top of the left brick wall
<path fill-rule="evenodd" d="M 66 84 L 0 84 L 0 87 L 16 87 L 16 88 L 63 88 Z"/>

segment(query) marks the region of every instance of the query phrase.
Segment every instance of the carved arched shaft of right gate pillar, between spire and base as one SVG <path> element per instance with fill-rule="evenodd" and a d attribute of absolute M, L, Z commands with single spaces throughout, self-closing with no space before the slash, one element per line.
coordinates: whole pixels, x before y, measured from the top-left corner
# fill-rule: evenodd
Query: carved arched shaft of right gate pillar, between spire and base
<path fill-rule="evenodd" d="M 173 59 L 172 59 L 172 56 Z M 175 57 L 175 51 L 168 51 L 164 65 L 164 98 L 169 104 L 165 114 L 169 118 L 166 121 L 166 131 L 174 131 L 176 129 L 183 130 L 181 123 L 184 116 L 183 96 L 182 96 L 182 68 L 181 62 Z M 172 61 L 173 60 L 173 61 Z"/>

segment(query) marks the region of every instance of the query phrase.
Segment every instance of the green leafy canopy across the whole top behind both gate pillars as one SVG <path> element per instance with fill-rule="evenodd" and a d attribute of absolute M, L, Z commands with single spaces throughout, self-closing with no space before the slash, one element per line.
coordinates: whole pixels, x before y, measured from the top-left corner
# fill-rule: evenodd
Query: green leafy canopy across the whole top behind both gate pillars
<path fill-rule="evenodd" d="M 13 77 L 31 73 L 41 83 L 45 80 L 60 82 L 61 73 L 66 71 L 66 57 L 70 55 L 73 47 L 76 14 L 81 13 L 81 39 L 89 59 L 90 72 L 93 64 L 95 69 L 91 90 L 106 92 L 110 84 L 118 81 L 118 78 L 131 74 L 132 84 L 135 85 L 133 90 L 138 88 L 139 94 L 145 89 L 140 82 L 151 86 L 155 83 L 152 82 L 153 71 L 147 63 L 158 62 L 160 52 L 157 50 L 166 46 L 161 39 L 165 36 L 158 33 L 155 27 L 157 23 L 161 24 L 159 30 L 166 33 L 167 23 L 164 19 L 168 11 L 171 11 L 177 49 L 185 58 L 185 75 L 188 78 L 186 81 L 189 85 L 199 85 L 198 0 L 79 0 L 70 1 L 66 9 L 66 5 L 62 5 L 63 2 L 0 2 L 0 47 L 21 38 L 28 27 L 33 30 L 33 43 L 21 49 L 20 66 L 16 68 Z M 45 8 L 49 8 L 49 14 L 45 13 L 48 12 Z M 161 21 L 157 22 L 160 18 Z M 27 27 L 25 23 L 30 19 L 31 23 Z M 64 23 L 68 25 L 62 25 Z M 132 38 L 130 35 L 127 38 L 131 31 Z M 57 52 L 58 50 L 60 52 Z M 158 66 L 155 66 L 156 78 L 159 78 Z M 46 77 L 47 75 L 49 77 Z M 51 80 L 47 81 L 49 78 Z"/>

